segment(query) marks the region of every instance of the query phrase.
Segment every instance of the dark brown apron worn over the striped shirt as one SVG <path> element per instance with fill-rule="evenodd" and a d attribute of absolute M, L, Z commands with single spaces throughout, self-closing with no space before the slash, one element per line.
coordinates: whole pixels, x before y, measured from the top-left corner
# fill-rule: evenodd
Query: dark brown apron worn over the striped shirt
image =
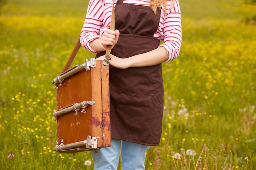
<path fill-rule="evenodd" d="M 124 4 L 115 7 L 115 29 L 120 31 L 111 53 L 120 58 L 156 49 L 161 9 Z M 98 53 L 96 57 L 105 55 Z M 155 56 L 157 57 L 157 56 Z M 110 61 L 111 62 L 111 61 Z M 149 146 L 159 145 L 163 117 L 162 65 L 118 69 L 110 66 L 111 137 Z"/>

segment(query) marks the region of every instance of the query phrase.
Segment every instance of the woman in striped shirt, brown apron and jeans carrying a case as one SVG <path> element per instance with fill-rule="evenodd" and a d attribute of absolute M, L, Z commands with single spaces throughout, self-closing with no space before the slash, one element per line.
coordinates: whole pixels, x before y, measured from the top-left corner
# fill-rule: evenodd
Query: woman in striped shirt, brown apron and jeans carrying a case
<path fill-rule="evenodd" d="M 149 146 L 162 133 L 162 62 L 177 58 L 181 46 L 178 0 L 115 0 L 115 31 L 110 30 L 112 0 L 90 0 L 80 42 L 110 61 L 111 147 L 92 152 L 94 170 L 144 170 Z M 161 45 L 160 42 L 164 41 Z"/>

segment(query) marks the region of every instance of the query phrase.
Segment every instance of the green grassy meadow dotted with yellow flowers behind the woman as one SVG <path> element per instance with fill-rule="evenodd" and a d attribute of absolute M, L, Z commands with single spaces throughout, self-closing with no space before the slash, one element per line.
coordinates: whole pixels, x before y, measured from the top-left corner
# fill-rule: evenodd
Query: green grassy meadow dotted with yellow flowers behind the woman
<path fill-rule="evenodd" d="M 53 151 L 51 82 L 79 38 L 87 5 L 8 0 L 2 7 L 0 169 L 93 169 L 90 152 Z M 182 49 L 178 59 L 163 64 L 163 133 L 160 145 L 147 152 L 146 169 L 255 170 L 256 25 L 247 20 L 255 5 L 242 0 L 180 0 L 180 5 Z M 81 48 L 73 65 L 91 57 Z M 189 149 L 195 155 L 186 155 Z M 85 166 L 86 160 L 92 165 Z"/>

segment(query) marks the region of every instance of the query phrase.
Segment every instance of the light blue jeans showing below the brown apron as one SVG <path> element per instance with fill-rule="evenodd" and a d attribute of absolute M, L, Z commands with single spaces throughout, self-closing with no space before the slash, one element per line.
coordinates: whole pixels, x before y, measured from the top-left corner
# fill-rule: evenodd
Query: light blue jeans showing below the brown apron
<path fill-rule="evenodd" d="M 92 151 L 94 170 L 117 170 L 121 151 L 122 170 L 145 170 L 149 146 L 111 139 L 111 146 Z"/>

